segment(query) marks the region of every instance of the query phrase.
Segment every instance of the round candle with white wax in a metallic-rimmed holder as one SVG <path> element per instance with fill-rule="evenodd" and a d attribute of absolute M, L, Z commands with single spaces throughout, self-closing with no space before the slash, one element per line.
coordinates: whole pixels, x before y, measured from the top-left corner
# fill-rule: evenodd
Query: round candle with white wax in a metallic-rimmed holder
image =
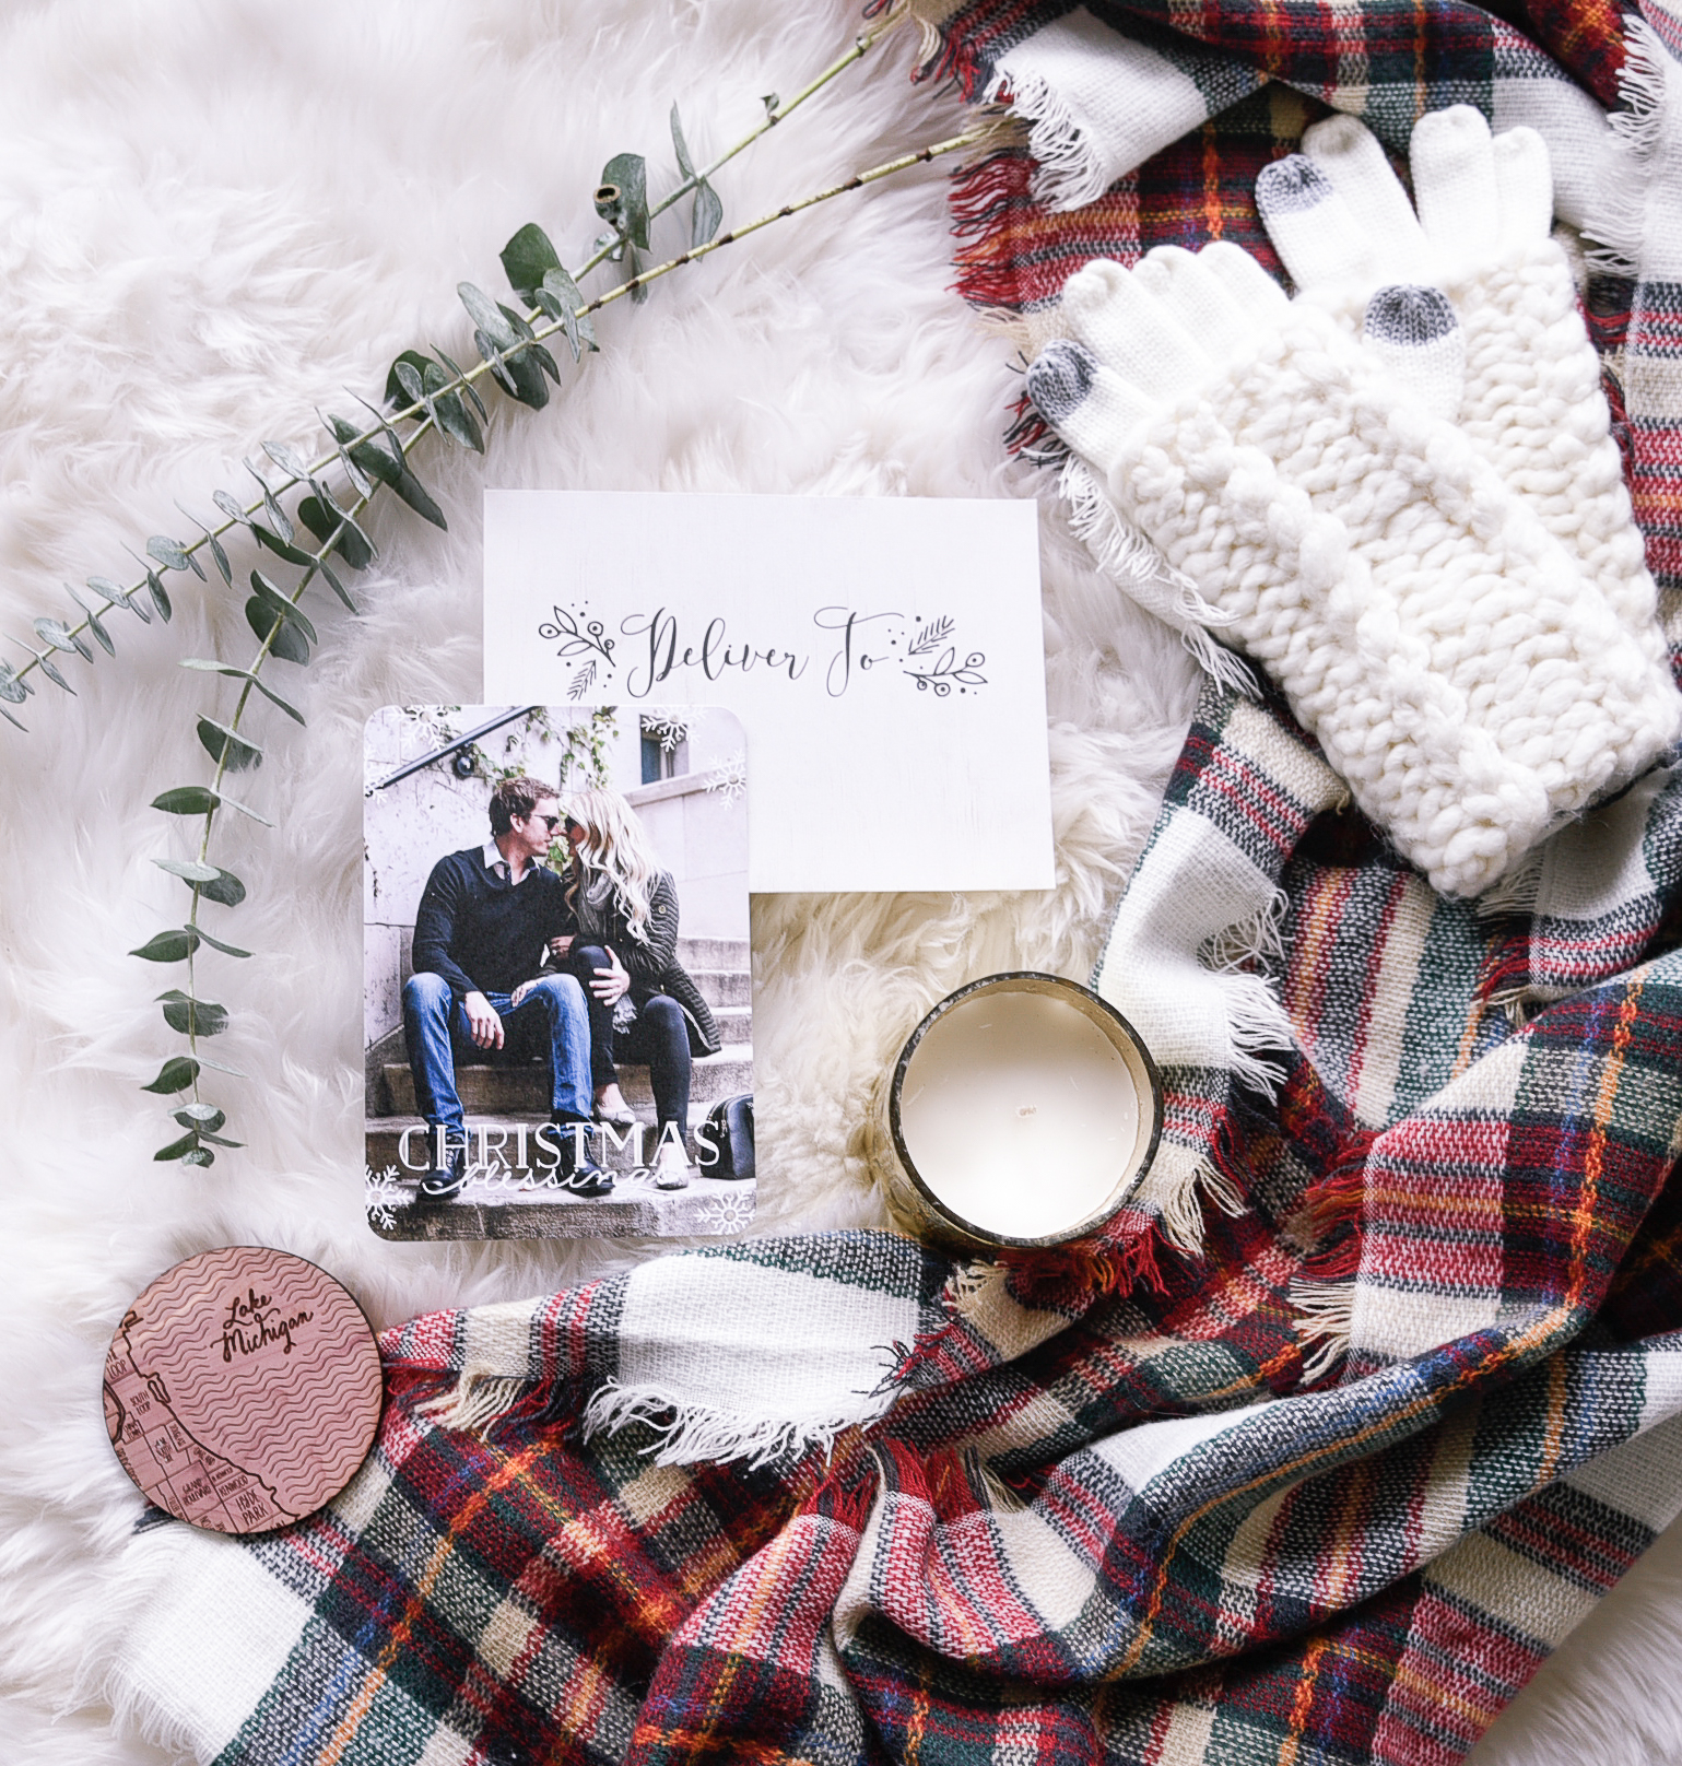
<path fill-rule="evenodd" d="M 901 1211 L 963 1247 L 1057 1245 L 1138 1189 L 1161 1128 L 1133 1026 L 1057 975 L 989 975 L 942 1000 L 889 1088 Z M 908 1206 L 906 1206 L 908 1204 Z"/>

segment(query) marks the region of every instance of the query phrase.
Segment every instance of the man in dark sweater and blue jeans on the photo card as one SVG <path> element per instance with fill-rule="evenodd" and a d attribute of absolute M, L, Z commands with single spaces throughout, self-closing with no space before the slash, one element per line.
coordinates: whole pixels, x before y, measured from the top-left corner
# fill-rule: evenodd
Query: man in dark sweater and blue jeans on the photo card
<path fill-rule="evenodd" d="M 613 1176 L 588 1151 L 590 1017 L 571 975 L 539 975 L 565 920 L 564 887 L 544 860 L 562 823 L 555 788 L 523 774 L 491 793 L 491 837 L 433 865 L 415 913 L 415 973 L 403 987 L 403 1035 L 426 1116 L 422 1201 L 456 1196 L 470 1146 L 458 1060 L 549 1065 L 549 1121 L 532 1139 L 535 1181 L 602 1196 Z M 580 1127 L 581 1125 L 581 1127 Z M 527 1141 L 521 1136 L 521 1148 Z"/>

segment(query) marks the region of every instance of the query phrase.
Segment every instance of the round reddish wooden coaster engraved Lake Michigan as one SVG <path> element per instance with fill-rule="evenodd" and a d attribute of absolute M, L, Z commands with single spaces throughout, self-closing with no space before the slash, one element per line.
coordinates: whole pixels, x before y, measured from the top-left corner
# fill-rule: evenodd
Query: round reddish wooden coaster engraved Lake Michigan
<path fill-rule="evenodd" d="M 263 1533 L 350 1483 L 380 1422 L 362 1309 L 286 1250 L 177 1263 L 124 1314 L 104 1372 L 122 1469 L 178 1521 Z"/>

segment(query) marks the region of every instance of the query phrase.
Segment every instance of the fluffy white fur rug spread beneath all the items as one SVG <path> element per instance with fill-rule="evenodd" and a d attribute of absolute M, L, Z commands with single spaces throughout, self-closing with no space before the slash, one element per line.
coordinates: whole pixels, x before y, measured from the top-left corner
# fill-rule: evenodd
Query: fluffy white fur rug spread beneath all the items
<path fill-rule="evenodd" d="M 182 532 L 265 436 L 369 396 L 408 344 L 470 351 L 454 284 L 541 221 L 567 261 L 618 150 L 671 177 L 682 101 L 708 155 L 859 28 L 850 0 L 12 0 L 0 14 L 0 629 L 58 583 L 122 574 L 124 542 Z M 961 127 L 912 88 L 913 39 L 717 178 L 742 221 Z M 576 1280 L 634 1245 L 428 1247 L 360 1211 L 360 724 L 385 701 L 477 696 L 479 493 L 495 486 L 1014 496 L 1009 350 L 947 291 L 940 168 L 841 198 L 602 316 L 601 357 L 548 411 L 504 408 L 481 464 L 433 457 L 451 530 L 378 530 L 359 620 L 318 602 L 297 676 L 309 728 L 267 719 L 231 830 L 251 901 L 216 927 L 256 950 L 207 964 L 253 1081 L 217 1097 L 247 1148 L 152 1162 L 170 1123 L 136 1084 L 175 1053 L 164 973 L 125 950 L 180 911 L 161 789 L 200 782 L 180 655 L 246 648 L 240 597 L 178 592 L 168 630 L 118 618 L 120 655 L 0 731 L 0 1021 L 9 1344 L 0 1423 L 5 1762 L 173 1759 L 113 1725 L 99 1671 L 106 1565 L 138 1513 L 104 1441 L 99 1369 L 127 1300 L 210 1245 L 297 1250 L 376 1324 Z M 728 224 L 726 221 L 726 224 Z M 671 235 L 668 235 L 671 237 Z M 659 242 L 659 240 L 657 240 Z M 247 560 L 249 563 L 249 560 Z M 180 583 L 173 577 L 171 583 Z M 767 1231 L 880 1220 L 859 1130 L 921 1010 L 1005 966 L 1083 975 L 1154 812 L 1191 666 L 1044 517 L 1046 666 L 1060 887 L 1025 897 L 761 897 L 756 1044 Z M 55 606 L 58 597 L 58 606 Z M 1000 826 L 1009 805 L 1000 805 Z M 1682 1761 L 1682 1538 L 1571 1639 L 1479 1766 Z"/>

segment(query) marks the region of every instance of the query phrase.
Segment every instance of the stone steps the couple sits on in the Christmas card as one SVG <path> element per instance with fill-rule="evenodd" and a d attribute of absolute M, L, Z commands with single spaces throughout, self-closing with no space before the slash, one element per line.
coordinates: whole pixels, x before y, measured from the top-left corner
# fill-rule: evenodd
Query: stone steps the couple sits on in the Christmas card
<path fill-rule="evenodd" d="M 719 1098 L 753 1091 L 753 975 L 746 940 L 680 938 L 678 962 L 689 971 L 717 1019 L 723 1047 L 694 1061 L 689 1090 L 689 1158 L 700 1151 L 694 1128 Z M 398 1047 L 401 1054 L 401 1035 Z M 544 1185 L 549 1155 L 532 1139 L 549 1120 L 549 1083 L 537 1063 L 461 1067 L 456 1090 L 466 1113 L 474 1180 L 443 1206 L 419 1210 L 413 1187 L 426 1158 L 426 1134 L 415 1113 L 415 1084 L 403 1060 L 371 1074 L 366 1121 L 369 1219 L 389 1238 L 541 1238 L 733 1233 L 751 1224 L 753 1185 L 694 1176 L 686 1190 L 657 1190 L 640 1171 L 634 1137 L 624 1144 L 595 1134 L 595 1160 L 615 1173 L 611 1196 L 574 1197 Z M 620 1090 L 647 1132 L 654 1157 L 654 1091 L 647 1067 L 620 1067 Z M 405 1130 L 412 1130 L 405 1139 Z M 519 1148 L 527 1166 L 519 1166 Z M 403 1158 L 403 1153 L 408 1158 Z M 705 1167 L 698 1167 L 705 1171 Z"/>

